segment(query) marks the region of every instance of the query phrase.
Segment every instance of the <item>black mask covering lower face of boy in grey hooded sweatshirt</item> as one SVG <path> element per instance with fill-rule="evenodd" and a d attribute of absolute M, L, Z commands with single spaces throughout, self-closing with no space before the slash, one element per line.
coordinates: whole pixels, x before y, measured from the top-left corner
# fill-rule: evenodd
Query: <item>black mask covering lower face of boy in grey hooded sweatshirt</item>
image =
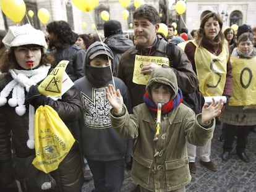
<path fill-rule="evenodd" d="M 88 66 L 86 75 L 90 83 L 96 87 L 105 86 L 112 80 L 110 67 L 92 67 Z"/>

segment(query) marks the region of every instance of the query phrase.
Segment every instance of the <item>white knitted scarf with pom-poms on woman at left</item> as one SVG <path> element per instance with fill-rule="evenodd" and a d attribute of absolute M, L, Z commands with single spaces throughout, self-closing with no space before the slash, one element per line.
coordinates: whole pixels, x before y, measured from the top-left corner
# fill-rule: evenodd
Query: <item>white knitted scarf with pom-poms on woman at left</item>
<path fill-rule="evenodd" d="M 11 69 L 9 72 L 13 80 L 10 81 L 0 92 L 0 106 L 4 106 L 7 97 L 12 91 L 12 97 L 8 100 L 11 107 L 15 107 L 16 114 L 22 116 L 26 112 L 25 107 L 25 91 L 29 91 L 30 86 L 45 79 L 51 66 L 41 65 L 38 69 L 33 70 L 17 70 Z M 28 141 L 27 146 L 30 149 L 35 148 L 34 140 L 34 117 L 35 108 L 29 105 L 28 109 Z"/>

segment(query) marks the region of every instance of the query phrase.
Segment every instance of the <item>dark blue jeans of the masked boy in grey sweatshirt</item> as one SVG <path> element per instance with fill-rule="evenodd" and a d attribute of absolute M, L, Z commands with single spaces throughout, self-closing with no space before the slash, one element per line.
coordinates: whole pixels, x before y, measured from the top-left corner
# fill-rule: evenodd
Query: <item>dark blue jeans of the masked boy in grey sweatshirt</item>
<path fill-rule="evenodd" d="M 119 192 L 124 182 L 124 159 L 115 161 L 93 161 L 87 159 L 93 174 L 93 192 Z"/>

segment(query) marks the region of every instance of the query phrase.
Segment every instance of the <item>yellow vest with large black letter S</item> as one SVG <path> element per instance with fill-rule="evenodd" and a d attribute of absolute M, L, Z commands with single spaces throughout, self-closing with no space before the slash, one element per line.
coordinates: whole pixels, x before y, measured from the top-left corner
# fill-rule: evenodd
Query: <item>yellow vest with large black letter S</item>
<path fill-rule="evenodd" d="M 205 48 L 198 47 L 195 41 L 195 68 L 199 90 L 203 96 L 223 95 L 226 84 L 227 62 L 229 57 L 228 41 L 223 44 L 220 55 L 215 56 Z"/>

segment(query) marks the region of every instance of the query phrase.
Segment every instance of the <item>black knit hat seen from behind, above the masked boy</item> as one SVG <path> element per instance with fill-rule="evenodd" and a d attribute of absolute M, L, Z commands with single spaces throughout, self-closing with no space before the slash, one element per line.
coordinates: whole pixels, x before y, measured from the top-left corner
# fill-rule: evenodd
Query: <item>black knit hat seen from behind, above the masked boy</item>
<path fill-rule="evenodd" d="M 122 34 L 122 25 L 118 20 L 108 20 L 104 23 L 104 36 Z"/>

